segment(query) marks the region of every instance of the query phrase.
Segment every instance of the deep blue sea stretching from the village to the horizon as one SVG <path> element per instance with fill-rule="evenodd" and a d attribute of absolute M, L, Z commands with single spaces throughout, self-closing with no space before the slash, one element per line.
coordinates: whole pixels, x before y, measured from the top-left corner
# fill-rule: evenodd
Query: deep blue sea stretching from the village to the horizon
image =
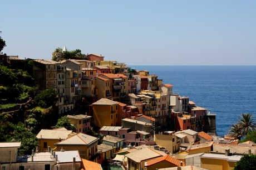
<path fill-rule="evenodd" d="M 242 113 L 256 114 L 256 66 L 127 66 L 157 74 L 174 93 L 216 114 L 218 136 L 227 135 Z"/>

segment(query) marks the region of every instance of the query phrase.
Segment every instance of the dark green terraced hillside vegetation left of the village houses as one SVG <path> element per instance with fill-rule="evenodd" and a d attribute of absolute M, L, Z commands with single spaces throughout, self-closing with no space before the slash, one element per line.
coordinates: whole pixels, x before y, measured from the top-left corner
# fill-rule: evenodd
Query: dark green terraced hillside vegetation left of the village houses
<path fill-rule="evenodd" d="M 31 154 L 38 146 L 36 134 L 57 122 L 57 93 L 39 91 L 21 69 L 0 65 L 0 78 L 0 142 L 21 142 L 18 154 Z"/>

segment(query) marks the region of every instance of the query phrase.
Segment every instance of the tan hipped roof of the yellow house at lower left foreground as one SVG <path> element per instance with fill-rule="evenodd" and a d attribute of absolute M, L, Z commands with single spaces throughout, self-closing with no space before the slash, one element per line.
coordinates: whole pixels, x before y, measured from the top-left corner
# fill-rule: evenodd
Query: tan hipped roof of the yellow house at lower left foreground
<path fill-rule="evenodd" d="M 67 138 L 61 142 L 55 143 L 55 145 L 91 145 L 98 141 L 99 138 L 86 135 L 85 133 L 77 133 L 77 135 Z"/>

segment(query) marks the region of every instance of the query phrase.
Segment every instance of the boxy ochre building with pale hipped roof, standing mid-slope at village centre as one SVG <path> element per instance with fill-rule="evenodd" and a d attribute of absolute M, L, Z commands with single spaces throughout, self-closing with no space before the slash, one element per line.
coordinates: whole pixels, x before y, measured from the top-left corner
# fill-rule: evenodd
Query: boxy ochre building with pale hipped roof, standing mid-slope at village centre
<path fill-rule="evenodd" d="M 118 123 L 118 102 L 102 98 L 92 104 L 95 126 L 120 126 Z M 119 125 L 120 124 L 120 125 Z"/>

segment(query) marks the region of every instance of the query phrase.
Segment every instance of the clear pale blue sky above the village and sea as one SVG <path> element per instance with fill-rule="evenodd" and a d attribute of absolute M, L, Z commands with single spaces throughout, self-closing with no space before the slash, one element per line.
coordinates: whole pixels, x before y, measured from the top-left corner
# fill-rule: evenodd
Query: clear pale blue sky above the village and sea
<path fill-rule="evenodd" d="M 66 45 L 127 65 L 256 65 L 256 1 L 1 1 L 3 53 Z"/>

